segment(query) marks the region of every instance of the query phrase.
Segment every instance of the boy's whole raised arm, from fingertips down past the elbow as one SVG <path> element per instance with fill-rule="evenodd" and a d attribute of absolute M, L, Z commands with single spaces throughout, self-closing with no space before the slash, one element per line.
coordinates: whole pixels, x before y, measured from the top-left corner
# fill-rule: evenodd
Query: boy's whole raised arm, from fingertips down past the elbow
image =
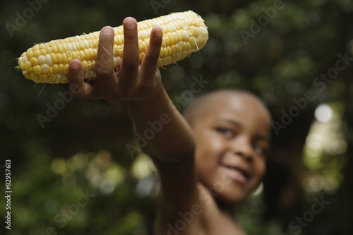
<path fill-rule="evenodd" d="M 145 135 L 148 129 L 153 130 L 150 124 L 155 123 L 155 131 L 147 133 L 149 140 L 143 150 L 152 157 L 160 172 L 162 188 L 159 203 L 163 208 L 160 229 L 163 230 L 167 222 L 175 222 L 179 212 L 190 210 L 191 205 L 197 202 L 193 159 L 195 141 L 191 127 L 169 100 L 157 70 L 162 29 L 152 30 L 148 50 L 139 67 L 136 24 L 133 18 L 124 20 L 124 59 L 119 72 L 115 73 L 113 68 L 112 28 L 103 28 L 96 61 L 97 79 L 84 82 L 82 64 L 74 60 L 68 71 L 69 86 L 76 98 L 126 100 L 135 131 L 140 135 Z M 74 92 L 75 84 L 80 92 Z"/>

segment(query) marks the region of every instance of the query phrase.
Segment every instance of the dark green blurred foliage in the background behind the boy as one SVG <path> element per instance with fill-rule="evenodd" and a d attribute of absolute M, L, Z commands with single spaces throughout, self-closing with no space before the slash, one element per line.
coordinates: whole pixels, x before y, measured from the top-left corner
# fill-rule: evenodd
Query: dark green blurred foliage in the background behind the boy
<path fill-rule="evenodd" d="M 176 105 L 185 105 L 180 97 L 190 89 L 191 78 L 201 76 L 210 81 L 202 92 L 219 88 L 255 92 L 277 121 L 282 110 L 293 107 L 293 99 L 308 90 L 316 95 L 288 128 L 274 136 L 274 152 L 281 154 L 269 160 L 285 167 L 269 164 L 265 195 L 241 206 L 239 222 L 249 234 L 298 234 L 290 222 L 311 210 L 313 198 L 324 195 L 330 205 L 302 227 L 301 234 L 352 234 L 352 61 L 323 90 L 313 80 L 335 66 L 338 54 L 352 57 L 353 1 L 283 1 L 283 8 L 247 40 L 241 30 L 251 33 L 253 22 L 264 19 L 277 1 L 157 2 L 162 7 L 137 0 L 47 1 L 13 31 L 13 37 L 6 23 L 16 25 L 16 13 L 23 15 L 30 5 L 1 2 L 0 164 L 11 159 L 13 194 L 11 231 L 3 223 L 0 233 L 151 234 L 157 176 L 142 153 L 132 157 L 126 150 L 126 143 L 133 143 L 133 132 L 124 103 L 72 100 L 42 128 L 37 114 L 45 116 L 47 104 L 54 105 L 61 98 L 59 92 L 68 87 L 25 80 L 16 71 L 16 58 L 35 43 L 121 25 L 126 16 L 144 20 L 193 10 L 205 19 L 210 38 L 201 52 L 179 66 L 161 69 Z M 323 103 L 330 104 L 335 118 L 313 121 L 316 107 Z M 1 188 L 3 173 L 1 169 Z M 273 191 L 271 187 L 280 182 L 282 188 Z M 85 204 L 79 198 L 87 192 L 92 198 Z M 272 204 L 271 193 L 278 195 Z M 0 204 L 3 216 L 4 197 Z M 63 214 L 66 210 L 68 214 Z"/>

